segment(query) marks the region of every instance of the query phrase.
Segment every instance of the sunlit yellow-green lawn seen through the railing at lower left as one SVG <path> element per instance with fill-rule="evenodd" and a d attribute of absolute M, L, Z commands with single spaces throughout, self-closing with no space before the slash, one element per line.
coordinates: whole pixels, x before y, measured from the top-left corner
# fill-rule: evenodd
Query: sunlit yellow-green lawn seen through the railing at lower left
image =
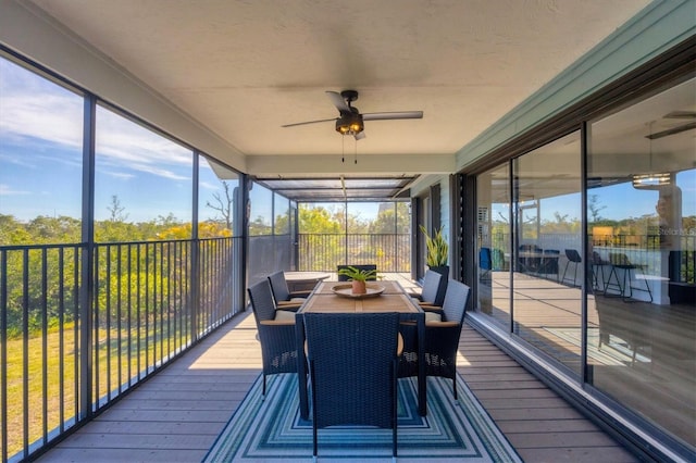
<path fill-rule="evenodd" d="M 121 333 L 121 338 L 119 338 L 119 333 Z M 132 384 L 135 384 L 138 379 L 138 372 L 153 367 L 163 358 L 174 353 L 175 349 L 181 349 L 182 343 L 188 342 L 186 337 L 182 339 L 178 338 L 178 334 L 167 333 L 166 327 L 163 333 L 160 331 L 159 325 L 157 331 L 153 326 L 149 327 L 150 338 L 147 347 L 145 339 L 148 333 L 144 326 L 139 327 L 139 334 L 140 346 L 138 347 L 138 327 L 132 328 L 129 331 L 128 329 L 120 331 L 117 329 L 97 330 L 98 354 L 92 359 L 92 362 L 99 365 L 99 370 L 92 377 L 95 399 L 108 395 L 109 389 L 111 389 L 112 396 L 119 395 L 119 385 L 123 385 L 123 388 L 126 389 L 129 378 Z M 77 336 L 79 335 L 77 334 Z M 40 335 L 30 337 L 26 341 L 26 348 L 24 339 L 8 340 L 8 455 L 11 456 L 21 451 L 25 441 L 30 445 L 42 439 L 44 433 L 50 433 L 58 428 L 61 421 L 69 423 L 75 417 L 78 410 L 75 400 L 79 390 L 78 381 L 76 381 L 76 375 L 79 372 L 75 366 L 80 361 L 79 339 L 76 343 L 75 338 L 75 324 L 70 323 L 64 325 L 62 340 L 61 330 L 57 328 L 50 330 L 45 340 Z M 174 338 L 177 339 L 176 345 Z M 119 346 L 121 347 L 120 351 Z M 97 381 L 99 390 L 96 389 Z M 45 389 L 46 393 L 44 393 Z M 45 413 L 46 420 L 44 420 Z"/>

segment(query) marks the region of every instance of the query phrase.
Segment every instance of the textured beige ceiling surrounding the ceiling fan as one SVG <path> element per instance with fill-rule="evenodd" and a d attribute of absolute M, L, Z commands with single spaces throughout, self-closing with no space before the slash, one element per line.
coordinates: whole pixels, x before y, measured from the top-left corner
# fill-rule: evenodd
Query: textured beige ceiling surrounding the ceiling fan
<path fill-rule="evenodd" d="M 248 157 L 453 154 L 648 2 L 33 0 Z M 349 88 L 424 117 L 281 127 Z"/>

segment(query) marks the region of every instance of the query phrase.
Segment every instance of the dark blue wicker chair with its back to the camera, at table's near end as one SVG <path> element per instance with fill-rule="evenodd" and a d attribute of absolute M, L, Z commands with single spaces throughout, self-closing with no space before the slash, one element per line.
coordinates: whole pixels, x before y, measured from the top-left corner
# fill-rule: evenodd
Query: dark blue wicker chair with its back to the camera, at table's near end
<path fill-rule="evenodd" d="M 397 455 L 399 314 L 307 313 L 313 455 L 318 429 L 364 425 L 391 429 Z"/>

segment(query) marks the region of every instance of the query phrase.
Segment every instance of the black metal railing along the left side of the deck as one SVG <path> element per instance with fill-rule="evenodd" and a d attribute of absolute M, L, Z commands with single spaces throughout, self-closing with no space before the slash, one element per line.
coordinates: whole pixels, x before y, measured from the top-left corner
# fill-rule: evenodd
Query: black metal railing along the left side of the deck
<path fill-rule="evenodd" d="M 0 247 L 2 461 L 20 461 L 234 308 L 234 238 Z"/>

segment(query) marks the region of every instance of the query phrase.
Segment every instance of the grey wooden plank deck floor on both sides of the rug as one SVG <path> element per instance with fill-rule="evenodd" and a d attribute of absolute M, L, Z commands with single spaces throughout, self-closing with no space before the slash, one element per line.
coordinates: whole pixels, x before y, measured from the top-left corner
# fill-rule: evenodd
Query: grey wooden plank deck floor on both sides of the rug
<path fill-rule="evenodd" d="M 464 326 L 459 371 L 526 462 L 635 462 L 507 354 Z M 40 462 L 199 462 L 261 372 L 250 313 L 213 333 Z"/>

